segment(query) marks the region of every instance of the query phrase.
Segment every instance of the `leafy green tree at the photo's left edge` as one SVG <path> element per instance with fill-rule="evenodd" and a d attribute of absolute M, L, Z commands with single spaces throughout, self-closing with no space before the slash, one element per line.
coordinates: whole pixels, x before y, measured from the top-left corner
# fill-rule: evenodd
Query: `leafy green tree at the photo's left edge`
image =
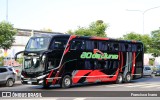
<path fill-rule="evenodd" d="M 0 48 L 9 49 L 15 40 L 13 36 L 16 33 L 12 24 L 2 21 L 0 23 Z"/>

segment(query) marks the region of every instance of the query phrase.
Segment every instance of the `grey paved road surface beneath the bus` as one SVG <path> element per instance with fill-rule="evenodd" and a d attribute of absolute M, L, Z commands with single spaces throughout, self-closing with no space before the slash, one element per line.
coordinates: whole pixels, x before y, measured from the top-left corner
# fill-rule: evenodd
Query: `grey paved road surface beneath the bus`
<path fill-rule="evenodd" d="M 144 91 L 145 93 L 148 93 L 148 91 L 150 91 L 149 93 L 151 94 L 152 93 L 155 94 L 157 92 L 160 93 L 160 77 L 154 77 L 154 78 L 144 77 L 138 80 L 134 80 L 131 83 L 124 83 L 124 84 L 112 84 L 112 83 L 95 83 L 95 84 L 83 84 L 83 85 L 78 84 L 78 85 L 72 86 L 69 89 L 61 89 L 58 85 L 52 86 L 49 89 L 43 89 L 42 86 L 38 86 L 38 85 L 22 85 L 18 81 L 13 87 L 1 86 L 0 91 L 39 91 L 39 92 L 44 92 L 45 94 L 52 94 L 52 95 L 53 94 L 59 95 L 58 93 L 61 93 L 61 96 L 58 96 L 58 97 L 45 98 L 48 100 L 62 100 L 62 99 L 63 100 L 97 100 L 97 99 L 106 100 L 107 98 L 108 99 L 112 98 L 112 100 L 115 100 L 117 98 L 119 100 L 125 100 L 125 99 L 135 100 L 135 99 L 138 99 L 138 97 L 126 98 L 125 94 L 130 93 L 131 91 L 133 92 Z M 94 91 L 94 92 L 88 92 L 88 91 Z M 109 97 L 100 97 L 100 98 L 96 97 L 96 95 L 104 95 L 104 93 L 109 93 L 108 94 Z M 75 97 L 73 96 L 73 94 L 76 94 Z M 88 97 L 85 94 L 89 96 L 90 94 L 92 95 Z M 80 96 L 80 97 L 77 97 L 77 96 Z M 92 97 L 92 96 L 95 96 L 95 97 Z M 119 97 L 119 96 L 122 96 L 122 97 Z M 158 100 L 160 97 L 153 97 L 153 98 Z M 141 97 L 139 99 L 149 100 L 151 99 L 151 97 L 143 97 L 143 98 Z"/>

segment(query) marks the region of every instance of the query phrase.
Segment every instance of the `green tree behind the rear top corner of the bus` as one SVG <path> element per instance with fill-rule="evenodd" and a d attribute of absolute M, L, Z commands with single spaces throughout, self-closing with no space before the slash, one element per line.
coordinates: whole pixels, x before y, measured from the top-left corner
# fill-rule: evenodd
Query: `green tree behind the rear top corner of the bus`
<path fill-rule="evenodd" d="M 136 41 L 141 41 L 144 44 L 144 52 L 145 53 L 151 53 L 151 44 L 152 44 L 152 39 L 148 34 L 138 34 L 138 33 L 128 33 L 126 35 L 123 35 L 121 39 L 124 40 L 136 40 Z"/>

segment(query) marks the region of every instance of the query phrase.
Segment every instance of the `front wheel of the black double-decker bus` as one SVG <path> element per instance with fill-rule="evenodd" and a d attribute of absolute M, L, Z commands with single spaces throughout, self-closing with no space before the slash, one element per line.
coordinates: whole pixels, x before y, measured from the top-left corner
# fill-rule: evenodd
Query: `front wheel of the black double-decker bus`
<path fill-rule="evenodd" d="M 71 85 L 72 85 L 71 77 L 69 75 L 65 75 L 62 79 L 61 87 L 62 88 L 69 88 Z"/>

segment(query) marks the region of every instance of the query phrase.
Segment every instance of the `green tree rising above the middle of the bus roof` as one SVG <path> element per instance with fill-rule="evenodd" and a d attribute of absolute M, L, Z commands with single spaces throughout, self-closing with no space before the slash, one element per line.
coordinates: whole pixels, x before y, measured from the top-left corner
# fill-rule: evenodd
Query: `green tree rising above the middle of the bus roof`
<path fill-rule="evenodd" d="M 80 35 L 80 36 L 98 36 L 98 37 L 106 37 L 105 33 L 108 25 L 103 23 L 102 20 L 97 20 L 96 22 L 92 22 L 89 27 L 78 27 L 74 32 L 69 30 L 67 33 L 71 35 Z"/>

